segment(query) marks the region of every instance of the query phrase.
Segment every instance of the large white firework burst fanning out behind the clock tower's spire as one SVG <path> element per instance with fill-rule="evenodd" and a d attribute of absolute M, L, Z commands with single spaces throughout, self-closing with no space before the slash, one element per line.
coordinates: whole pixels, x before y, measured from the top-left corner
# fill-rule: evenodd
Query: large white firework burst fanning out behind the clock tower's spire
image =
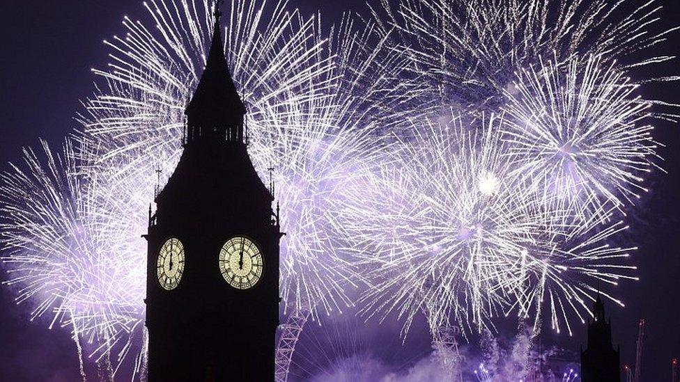
<path fill-rule="evenodd" d="M 124 20 L 125 38 L 107 42 L 113 49 L 109 69 L 95 70 L 107 84 L 88 101 L 82 117 L 84 134 L 95 141 L 90 147 L 100 153 L 95 171 L 118 175 L 123 193 L 134 183 L 152 190 L 155 171 L 162 170 L 167 177 L 176 165 L 182 149 L 183 110 L 200 77 L 213 22 L 208 1 L 150 1 L 145 6 L 157 31 L 142 22 Z M 263 149 L 253 147 L 262 141 L 258 136 L 296 134 L 290 139 L 297 143 L 310 138 L 304 136 L 307 132 L 300 122 L 316 117 L 300 108 L 314 106 L 323 112 L 327 97 L 321 91 L 327 90 L 332 80 L 330 59 L 323 51 L 324 41 L 314 18 L 304 19 L 297 10 L 288 11 L 285 2 L 269 6 L 238 1 L 231 3 L 225 14 L 229 15 L 226 56 L 249 108 L 251 152 L 265 175 L 275 162 L 262 158 L 258 153 Z M 279 184 L 279 190 L 284 186 Z M 146 200 L 134 200 L 139 221 L 146 219 L 146 205 L 152 197 L 153 193 L 148 193 Z M 286 203 L 281 207 L 286 221 L 291 207 Z M 144 232 L 145 226 L 130 228 Z M 132 232 L 128 234 L 132 236 Z M 139 232 L 134 234 L 139 236 Z M 141 264 L 144 257 L 139 253 L 123 255 L 136 256 Z M 282 273 L 284 280 L 292 277 L 285 267 Z"/>

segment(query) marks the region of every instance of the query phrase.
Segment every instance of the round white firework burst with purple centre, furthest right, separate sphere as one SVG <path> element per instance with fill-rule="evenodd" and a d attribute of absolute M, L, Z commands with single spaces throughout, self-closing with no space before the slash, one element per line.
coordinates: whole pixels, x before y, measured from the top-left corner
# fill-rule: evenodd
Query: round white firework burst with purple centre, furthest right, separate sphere
<path fill-rule="evenodd" d="M 634 204 L 658 159 L 649 102 L 638 86 L 601 58 L 556 61 L 518 73 L 506 92 L 506 141 L 517 173 L 555 208 L 603 222 L 612 208 Z"/>

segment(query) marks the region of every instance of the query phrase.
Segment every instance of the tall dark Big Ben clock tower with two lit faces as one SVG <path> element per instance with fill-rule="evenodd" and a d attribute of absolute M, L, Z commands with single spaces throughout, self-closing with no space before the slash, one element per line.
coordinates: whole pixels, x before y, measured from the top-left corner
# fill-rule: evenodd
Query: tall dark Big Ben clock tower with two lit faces
<path fill-rule="evenodd" d="M 274 379 L 278 212 L 247 152 L 217 10 L 215 19 L 182 157 L 149 216 L 150 382 Z"/>

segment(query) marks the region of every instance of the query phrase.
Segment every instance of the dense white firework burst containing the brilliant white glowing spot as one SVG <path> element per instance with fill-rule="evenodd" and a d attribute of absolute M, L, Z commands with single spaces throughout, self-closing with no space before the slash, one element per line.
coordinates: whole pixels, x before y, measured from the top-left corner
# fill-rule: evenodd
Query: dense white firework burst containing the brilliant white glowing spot
<path fill-rule="evenodd" d="M 374 282 L 361 300 L 364 313 L 399 312 L 408 331 L 426 310 L 433 330 L 454 317 L 478 331 L 507 303 L 505 262 L 550 226 L 509 176 L 499 122 L 468 124 L 444 111 L 417 122 L 415 136 L 367 172 L 373 185 L 346 214 Z"/>

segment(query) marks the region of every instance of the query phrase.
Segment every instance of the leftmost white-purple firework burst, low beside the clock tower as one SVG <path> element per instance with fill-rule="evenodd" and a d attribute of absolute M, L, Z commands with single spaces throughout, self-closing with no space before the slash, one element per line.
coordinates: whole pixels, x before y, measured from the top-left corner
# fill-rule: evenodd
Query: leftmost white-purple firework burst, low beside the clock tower
<path fill-rule="evenodd" d="M 108 210 L 95 205 L 99 184 L 86 177 L 77 145 L 68 138 L 53 152 L 43 141 L 42 154 L 24 150 L 24 163 L 1 175 L 3 283 L 16 285 L 17 303 L 31 299 L 31 319 L 50 317 L 50 327 L 72 328 L 96 347 L 121 340 L 141 310 L 126 289 L 129 265 L 109 257 L 116 248 L 97 230 Z M 99 351 L 96 360 L 108 357 Z"/>

